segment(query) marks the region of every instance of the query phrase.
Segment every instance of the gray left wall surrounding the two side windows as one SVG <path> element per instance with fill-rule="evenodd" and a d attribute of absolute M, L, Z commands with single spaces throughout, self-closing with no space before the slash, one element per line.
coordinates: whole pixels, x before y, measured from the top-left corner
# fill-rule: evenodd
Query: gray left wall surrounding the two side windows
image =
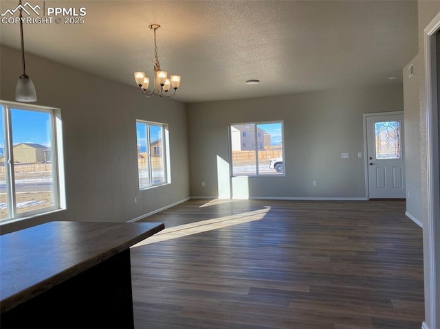
<path fill-rule="evenodd" d="M 0 66 L 0 99 L 14 101 L 20 53 L 1 47 Z M 1 234 L 49 220 L 126 222 L 189 197 L 184 103 L 145 98 L 134 85 L 111 82 L 30 54 L 26 69 L 38 95 L 32 104 L 61 109 L 67 209 L 2 225 Z M 138 189 L 136 119 L 168 124 L 171 184 Z"/>

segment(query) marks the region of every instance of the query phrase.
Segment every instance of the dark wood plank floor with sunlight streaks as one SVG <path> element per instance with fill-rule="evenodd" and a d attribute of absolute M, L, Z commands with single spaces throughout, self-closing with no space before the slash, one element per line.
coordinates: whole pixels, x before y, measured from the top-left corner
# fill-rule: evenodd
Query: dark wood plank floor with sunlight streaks
<path fill-rule="evenodd" d="M 135 328 L 419 329 L 405 201 L 190 200 L 131 248 Z"/>

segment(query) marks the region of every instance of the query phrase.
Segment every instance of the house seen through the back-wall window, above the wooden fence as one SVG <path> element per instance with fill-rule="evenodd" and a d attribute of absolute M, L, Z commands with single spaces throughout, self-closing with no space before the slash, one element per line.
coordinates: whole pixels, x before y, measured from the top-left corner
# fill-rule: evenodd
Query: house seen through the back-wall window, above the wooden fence
<path fill-rule="evenodd" d="M 257 128 L 255 143 L 255 126 L 253 124 L 235 124 L 231 126 L 231 146 L 233 151 L 265 150 L 270 146 L 270 134 Z"/>

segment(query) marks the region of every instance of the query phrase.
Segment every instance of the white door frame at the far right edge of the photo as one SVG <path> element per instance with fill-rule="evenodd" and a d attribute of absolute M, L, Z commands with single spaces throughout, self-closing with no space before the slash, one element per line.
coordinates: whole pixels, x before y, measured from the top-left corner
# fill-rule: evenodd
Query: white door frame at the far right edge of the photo
<path fill-rule="evenodd" d="M 429 300 L 430 326 L 437 328 L 439 325 L 440 313 L 440 206 L 436 201 L 440 197 L 439 183 L 439 104 L 437 95 L 437 46 L 435 35 L 440 32 L 440 12 L 426 26 L 424 36 L 425 50 L 425 106 L 426 106 L 426 150 L 427 150 L 427 187 L 428 187 L 428 223 L 426 234 L 428 236 L 428 280 L 430 282 L 430 293 L 425 297 Z M 437 232 L 437 234 L 436 234 Z M 426 258 L 425 258 L 426 259 Z M 436 270 L 437 269 L 437 270 Z M 426 276 L 425 276 L 426 277 Z M 427 280 L 427 278 L 426 278 Z M 428 304 L 428 303 L 426 303 Z M 428 328 L 423 322 L 422 328 Z"/>

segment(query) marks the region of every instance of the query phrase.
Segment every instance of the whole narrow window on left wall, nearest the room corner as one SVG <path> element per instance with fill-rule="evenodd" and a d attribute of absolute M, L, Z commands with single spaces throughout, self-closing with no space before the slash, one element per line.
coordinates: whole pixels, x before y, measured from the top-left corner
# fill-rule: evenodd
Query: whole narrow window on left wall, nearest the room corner
<path fill-rule="evenodd" d="M 168 126 L 136 120 L 139 188 L 169 183 Z"/>

